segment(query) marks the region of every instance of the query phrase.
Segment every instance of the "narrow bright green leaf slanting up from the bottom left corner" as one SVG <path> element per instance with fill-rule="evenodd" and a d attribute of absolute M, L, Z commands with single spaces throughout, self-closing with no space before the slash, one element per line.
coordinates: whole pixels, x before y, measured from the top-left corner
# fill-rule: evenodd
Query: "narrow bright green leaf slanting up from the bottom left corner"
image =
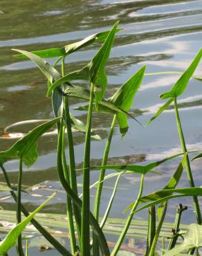
<path fill-rule="evenodd" d="M 10 250 L 10 248 L 12 248 L 12 246 L 15 246 L 17 238 L 19 237 L 21 232 L 24 230 L 24 228 L 26 228 L 26 226 L 33 219 L 35 214 L 37 212 L 39 212 L 39 210 L 41 210 L 46 205 L 46 203 L 48 203 L 48 201 L 50 201 L 50 199 L 53 199 L 53 196 L 55 196 L 55 193 L 52 194 L 44 203 L 42 203 L 42 205 L 40 205 L 28 217 L 26 217 L 26 219 L 21 221 L 21 223 L 17 224 L 17 226 L 15 226 L 15 228 L 10 230 L 10 232 L 8 233 L 6 238 L 3 239 L 3 241 L 0 242 L 0 255 L 6 254 L 8 252 L 8 250 Z M 69 254 L 69 255 L 71 255 L 71 254 Z"/>

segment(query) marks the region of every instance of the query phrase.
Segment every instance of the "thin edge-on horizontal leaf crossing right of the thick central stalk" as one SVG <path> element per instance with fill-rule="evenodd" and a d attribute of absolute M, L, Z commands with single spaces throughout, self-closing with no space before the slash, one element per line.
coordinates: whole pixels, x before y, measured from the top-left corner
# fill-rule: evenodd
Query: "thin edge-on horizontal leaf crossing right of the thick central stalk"
<path fill-rule="evenodd" d="M 149 163 L 147 165 L 104 165 L 104 166 L 95 166 L 92 167 L 92 169 L 111 169 L 111 170 L 117 170 L 117 171 L 131 171 L 138 174 L 147 174 L 147 172 L 151 172 L 155 167 L 160 165 L 161 163 L 164 163 L 166 161 L 171 160 L 172 158 L 176 158 L 177 156 L 181 156 L 184 153 L 176 154 L 173 156 L 169 156 L 168 158 L 164 158 L 161 161 Z"/>

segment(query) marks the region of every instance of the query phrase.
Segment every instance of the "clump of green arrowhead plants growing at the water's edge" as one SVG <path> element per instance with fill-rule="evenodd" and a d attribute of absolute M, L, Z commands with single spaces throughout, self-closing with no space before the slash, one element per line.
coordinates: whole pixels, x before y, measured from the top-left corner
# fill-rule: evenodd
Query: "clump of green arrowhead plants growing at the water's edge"
<path fill-rule="evenodd" d="M 10 191 L 10 195 L 16 201 L 16 224 L 15 228 L 8 232 L 8 235 L 0 242 L 0 255 L 9 255 L 9 250 L 12 246 L 17 247 L 17 255 L 30 255 L 29 239 L 23 239 L 21 232 L 26 228 L 26 225 L 31 222 L 37 230 L 48 240 L 55 248 L 57 255 L 82 255 L 82 256 L 116 256 L 123 255 L 122 242 L 124 241 L 127 232 L 131 227 L 134 227 L 133 217 L 136 212 L 143 209 L 148 210 L 148 220 L 145 224 L 147 229 L 144 231 L 144 236 L 147 238 L 147 248 L 143 255 L 154 256 L 158 255 L 199 255 L 199 248 L 202 247 L 202 227 L 201 227 L 201 209 L 199 205 L 199 196 L 202 195 L 202 188 L 196 187 L 192 176 L 192 161 L 202 158 L 201 152 L 187 151 L 185 137 L 183 135 L 183 125 L 181 124 L 180 114 L 178 112 L 178 96 L 182 95 L 187 88 L 191 78 L 202 81 L 201 77 L 194 76 L 199 62 L 201 61 L 202 49 L 194 57 L 194 60 L 183 73 L 179 75 L 178 80 L 171 90 L 160 95 L 160 99 L 167 100 L 152 116 L 146 125 L 141 124 L 129 110 L 134 101 L 136 92 L 143 83 L 145 75 L 159 74 L 174 74 L 176 72 L 163 73 L 147 73 L 146 66 L 142 66 L 129 79 L 120 86 L 120 88 L 109 99 L 104 99 L 105 91 L 107 90 L 107 75 L 106 64 L 109 60 L 111 48 L 121 28 L 118 27 L 119 22 L 114 24 L 109 31 L 104 31 L 95 35 L 90 35 L 85 39 L 69 44 L 62 48 L 50 48 L 42 51 L 28 52 L 19 49 L 12 49 L 17 52 L 16 58 L 32 60 L 39 70 L 47 78 L 46 96 L 51 98 L 53 112 L 55 118 L 48 120 L 42 125 L 35 127 L 28 134 L 17 140 L 6 151 L 0 152 L 0 167 L 5 177 L 5 184 L 0 186 L 1 191 Z M 79 51 L 90 44 L 102 43 L 100 50 L 95 54 L 93 59 L 80 70 L 68 73 L 66 71 L 65 60 L 68 55 Z M 45 58 L 57 58 L 53 66 L 50 66 Z M 60 72 L 56 66 L 60 65 Z M 89 84 L 89 89 L 83 86 L 75 85 L 75 81 L 84 81 Z M 70 97 L 84 100 L 85 104 L 78 107 L 77 110 L 87 111 L 85 123 L 78 120 L 71 113 L 68 99 Z M 143 129 L 150 125 L 163 111 L 171 104 L 174 104 L 176 116 L 176 133 L 178 133 L 179 143 L 181 144 L 181 153 L 169 156 L 160 161 L 152 162 L 147 165 L 108 165 L 109 152 L 111 141 L 113 140 L 113 132 L 118 125 L 122 139 L 129 130 L 128 118 L 132 118 L 136 125 L 140 125 Z M 111 115 L 111 128 L 107 143 L 102 157 L 102 165 L 91 166 L 91 140 L 101 140 L 99 134 L 95 133 L 95 127 L 92 127 L 93 113 L 104 113 Z M 57 176 L 66 193 L 66 217 L 68 221 L 63 223 L 63 228 L 68 230 L 69 246 L 66 248 L 55 236 L 44 228 L 38 219 L 34 219 L 35 214 L 38 214 L 50 199 L 55 196 L 55 193 L 42 203 L 33 213 L 29 214 L 24 205 L 21 203 L 21 194 L 24 190 L 21 187 L 21 179 L 26 168 L 32 166 L 38 158 L 37 140 L 46 134 L 51 127 L 57 126 Z M 75 167 L 75 146 L 73 141 L 73 131 L 76 130 L 85 135 L 84 156 L 82 166 L 82 194 L 78 194 L 78 183 Z M 66 150 L 68 149 L 68 155 Z M 190 154 L 197 154 L 194 158 L 190 158 Z M 178 167 L 169 181 L 163 188 L 159 188 L 150 194 L 144 193 L 144 179 L 147 174 L 158 174 L 156 167 L 162 163 L 168 162 L 174 158 L 178 159 Z M 10 179 L 4 164 L 12 159 L 19 160 L 19 176 L 17 190 L 12 187 Z M 91 184 L 91 170 L 98 170 L 100 176 L 98 181 Z M 106 174 L 106 170 L 113 170 L 111 174 Z M 183 171 L 187 174 L 189 188 L 177 188 Z M 111 233 L 116 233 L 118 239 L 113 248 L 109 248 L 106 231 L 109 219 L 109 212 L 113 201 L 116 199 L 116 192 L 120 184 L 120 177 L 127 174 L 138 174 L 140 176 L 139 192 L 136 198 L 131 197 L 133 201 L 125 209 L 127 217 L 122 221 L 118 232 L 111 230 Z M 104 216 L 100 218 L 100 207 L 102 192 L 104 190 L 104 181 L 116 177 L 116 182 L 111 193 L 111 198 L 107 205 Z M 96 188 L 93 211 L 90 210 L 91 205 L 91 188 Z M 194 205 L 194 214 L 196 215 L 196 223 L 191 223 L 189 226 L 184 226 L 187 230 L 181 230 L 181 215 L 187 209 L 186 206 L 179 204 L 176 210 L 174 223 L 169 224 L 172 234 L 169 239 L 162 235 L 167 223 L 165 216 L 169 202 L 171 199 L 190 196 Z M 26 218 L 21 218 L 22 214 Z M 37 215 L 39 216 L 39 215 Z M 47 215 L 48 216 L 48 215 Z M 45 225 L 46 226 L 46 225 Z M 114 227 L 115 228 L 115 227 Z M 137 226 L 136 226 L 137 228 Z M 135 237 L 134 227 L 134 237 Z M 162 239 L 162 248 L 156 246 Z M 25 247 L 25 248 L 24 248 Z M 183 253 L 183 254 L 182 254 Z M 124 252 L 124 255 L 134 255 L 133 253 Z"/>

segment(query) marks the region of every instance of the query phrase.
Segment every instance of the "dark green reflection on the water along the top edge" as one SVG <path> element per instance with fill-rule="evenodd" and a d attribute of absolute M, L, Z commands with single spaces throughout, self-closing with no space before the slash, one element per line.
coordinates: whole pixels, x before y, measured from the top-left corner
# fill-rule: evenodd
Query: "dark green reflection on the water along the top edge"
<path fill-rule="evenodd" d="M 1 1 L 1 35 L 0 39 L 22 37 L 39 37 L 64 33 L 66 31 L 83 30 L 111 26 L 120 19 L 122 24 L 134 22 L 128 17 L 130 12 L 149 6 L 160 6 L 169 3 L 182 3 L 189 0 L 166 1 L 132 1 L 126 3 L 102 4 L 102 1 Z M 8 4 L 9 3 L 9 4 Z M 98 15 L 99 12 L 99 15 Z M 141 21 L 143 18 L 136 19 Z M 151 19 L 145 17 L 144 21 Z M 13 26 L 15 24 L 15 26 Z M 39 29 L 40 28 L 40 29 Z"/>

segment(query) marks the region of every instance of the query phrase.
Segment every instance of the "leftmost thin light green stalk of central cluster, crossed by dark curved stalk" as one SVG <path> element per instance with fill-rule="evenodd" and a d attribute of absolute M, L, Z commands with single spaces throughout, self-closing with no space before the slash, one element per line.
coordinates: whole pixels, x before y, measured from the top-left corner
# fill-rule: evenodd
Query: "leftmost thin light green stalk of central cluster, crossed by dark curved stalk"
<path fill-rule="evenodd" d="M 63 165 L 63 171 L 64 176 L 66 179 L 66 182 L 70 184 L 69 176 L 68 176 L 68 167 L 66 165 L 66 156 L 65 156 L 65 142 L 64 142 L 64 135 L 65 135 L 65 126 L 62 127 L 62 165 Z M 75 255 L 77 253 L 77 246 L 76 246 L 76 239 L 75 239 L 75 229 L 73 225 L 73 209 L 71 204 L 71 199 L 66 194 L 66 210 L 67 210 L 67 217 L 68 217 L 68 231 L 69 231 L 69 239 L 71 244 L 71 253 Z"/>

